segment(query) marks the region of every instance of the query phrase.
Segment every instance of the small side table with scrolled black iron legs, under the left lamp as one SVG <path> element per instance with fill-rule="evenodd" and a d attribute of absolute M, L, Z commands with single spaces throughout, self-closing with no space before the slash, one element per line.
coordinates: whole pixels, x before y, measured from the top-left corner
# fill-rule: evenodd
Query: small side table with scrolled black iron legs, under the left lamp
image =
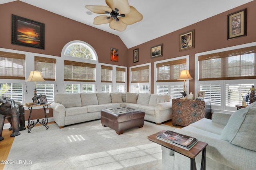
<path fill-rule="evenodd" d="M 29 117 L 28 117 L 28 126 L 27 126 L 27 128 L 28 128 L 28 133 L 30 133 L 31 129 L 32 129 L 38 122 L 39 122 L 41 125 L 44 125 L 44 127 L 46 127 L 46 129 L 49 128 L 49 127 L 47 126 L 48 117 L 47 117 L 47 114 L 46 114 L 46 109 L 48 108 L 48 106 L 49 106 L 50 104 L 51 104 L 51 103 L 24 105 L 24 106 L 28 107 L 28 109 L 30 110 Z M 33 107 L 38 107 L 38 106 L 43 106 L 45 119 L 42 119 L 41 122 L 39 121 L 39 119 L 36 119 L 36 122 L 31 121 L 31 123 L 30 123 L 30 117 L 31 117 L 31 114 L 32 114 Z"/>

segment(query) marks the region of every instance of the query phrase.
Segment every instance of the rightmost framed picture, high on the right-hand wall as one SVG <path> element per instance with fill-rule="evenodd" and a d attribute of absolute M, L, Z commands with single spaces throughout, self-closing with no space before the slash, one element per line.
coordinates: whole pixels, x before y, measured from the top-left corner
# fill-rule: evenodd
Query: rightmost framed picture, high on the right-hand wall
<path fill-rule="evenodd" d="M 228 15 L 228 37 L 233 39 L 246 35 L 246 9 Z"/>

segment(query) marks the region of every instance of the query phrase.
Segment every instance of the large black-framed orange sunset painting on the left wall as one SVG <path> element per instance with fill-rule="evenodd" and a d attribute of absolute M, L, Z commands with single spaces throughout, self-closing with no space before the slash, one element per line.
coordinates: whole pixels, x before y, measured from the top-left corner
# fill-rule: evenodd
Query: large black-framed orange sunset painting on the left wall
<path fill-rule="evenodd" d="M 12 15 L 12 44 L 44 49 L 44 23 Z"/>

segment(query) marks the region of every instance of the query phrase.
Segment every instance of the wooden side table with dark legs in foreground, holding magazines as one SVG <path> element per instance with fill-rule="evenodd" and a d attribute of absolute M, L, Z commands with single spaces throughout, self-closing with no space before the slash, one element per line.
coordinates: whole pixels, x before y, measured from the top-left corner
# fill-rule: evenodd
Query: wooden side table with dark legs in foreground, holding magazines
<path fill-rule="evenodd" d="M 159 145 L 162 145 L 163 147 L 166 147 L 170 150 L 173 150 L 175 152 L 178 152 L 188 158 L 190 158 L 190 169 L 196 170 L 196 156 L 202 151 L 202 161 L 201 161 L 201 170 L 205 170 L 206 165 L 206 146 L 207 143 L 198 141 L 196 145 L 194 145 L 190 150 L 185 150 L 180 147 L 176 147 L 175 145 L 172 145 L 170 143 L 161 141 L 156 138 L 157 135 L 164 133 L 166 130 L 160 131 L 158 133 L 154 133 L 153 135 L 150 135 L 147 137 L 148 140 L 157 143 Z"/>

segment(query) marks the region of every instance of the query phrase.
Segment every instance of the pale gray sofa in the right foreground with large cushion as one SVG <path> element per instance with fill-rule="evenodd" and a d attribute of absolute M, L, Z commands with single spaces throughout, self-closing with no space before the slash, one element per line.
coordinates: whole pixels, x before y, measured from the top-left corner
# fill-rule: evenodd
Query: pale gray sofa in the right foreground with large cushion
<path fill-rule="evenodd" d="M 256 170 L 256 102 L 233 114 L 214 112 L 174 131 L 208 143 L 206 170 Z M 200 168 L 202 153 L 196 157 Z M 190 159 L 162 147 L 164 170 L 190 169 Z"/>

